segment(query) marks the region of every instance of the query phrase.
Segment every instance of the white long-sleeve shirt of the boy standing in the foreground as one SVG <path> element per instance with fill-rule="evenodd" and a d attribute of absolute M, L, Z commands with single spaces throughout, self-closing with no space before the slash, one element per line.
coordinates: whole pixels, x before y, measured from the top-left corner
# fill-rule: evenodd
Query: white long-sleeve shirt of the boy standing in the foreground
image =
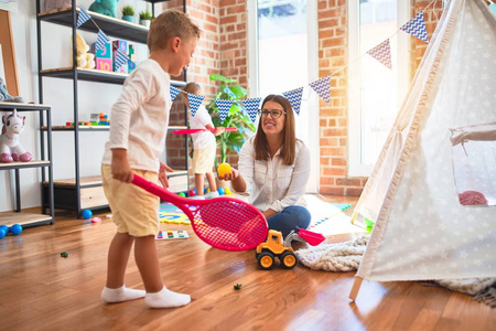
<path fill-rule="evenodd" d="M 126 79 L 110 113 L 110 137 L 103 163 L 112 149 L 127 149 L 132 169 L 159 171 L 171 109 L 171 79 L 154 60 L 143 61 Z"/>

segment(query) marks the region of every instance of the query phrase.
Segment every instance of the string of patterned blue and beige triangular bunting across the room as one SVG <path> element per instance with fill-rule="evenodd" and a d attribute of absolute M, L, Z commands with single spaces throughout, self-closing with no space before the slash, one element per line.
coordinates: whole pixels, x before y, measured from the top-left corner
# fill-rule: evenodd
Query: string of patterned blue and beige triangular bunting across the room
<path fill-rule="evenodd" d="M 429 42 L 429 36 L 425 29 L 425 20 L 423 18 L 423 11 L 431 6 L 436 0 L 432 0 L 428 6 L 425 6 L 413 19 L 408 21 L 406 24 L 403 24 L 400 30 L 405 31 L 424 42 Z M 91 22 L 98 28 L 98 34 L 97 34 L 97 41 L 96 45 L 99 49 L 105 49 L 106 43 L 111 43 L 110 39 L 107 36 L 107 34 L 98 26 L 98 24 L 91 19 L 91 15 L 86 11 L 86 9 L 83 6 L 79 6 L 79 13 L 77 17 L 76 28 L 79 28 L 84 23 L 86 23 L 88 20 L 91 20 Z M 397 32 L 398 33 L 398 32 Z M 393 34 L 396 35 L 396 33 Z M 373 56 L 375 60 L 380 62 L 382 65 L 385 65 L 387 68 L 392 70 L 391 65 L 391 47 L 389 40 L 393 36 L 391 35 L 387 40 L 382 41 L 375 47 L 370 49 L 366 52 L 366 54 Z M 112 46 L 116 51 L 116 66 L 120 67 L 121 65 L 126 64 L 129 61 L 128 55 L 126 55 L 121 50 Z M 364 56 L 364 55 L 363 55 Z M 360 58 L 363 57 L 360 56 Z M 346 67 L 346 66 L 345 66 Z M 344 68 L 344 67 L 343 67 Z M 326 75 L 324 77 L 321 77 L 314 82 L 309 83 L 309 86 L 315 90 L 315 93 L 325 102 L 331 102 L 331 76 L 336 74 L 337 72 L 342 71 L 343 68 Z M 174 86 L 171 86 L 171 99 L 174 100 L 177 95 L 182 93 L 186 93 L 184 90 L 181 90 Z M 192 116 L 196 115 L 196 111 L 198 110 L 200 105 L 202 105 L 203 100 L 205 99 L 204 96 L 195 95 L 195 94 L 187 94 L 187 98 L 190 102 L 191 113 Z M 300 108 L 301 108 L 301 100 L 303 96 L 303 86 L 299 88 L 294 88 L 288 92 L 283 92 L 282 95 L 288 98 L 288 100 L 291 104 L 291 107 L 293 110 L 300 115 Z M 227 114 L 229 113 L 230 107 L 233 106 L 235 100 L 233 99 L 216 99 L 215 104 L 218 107 L 219 110 L 219 117 L 220 121 L 224 122 L 224 120 L 227 117 Z M 247 111 L 249 118 L 251 121 L 256 121 L 257 119 L 257 111 L 260 106 L 261 98 L 246 98 L 241 99 L 241 103 L 245 106 L 245 110 Z"/>

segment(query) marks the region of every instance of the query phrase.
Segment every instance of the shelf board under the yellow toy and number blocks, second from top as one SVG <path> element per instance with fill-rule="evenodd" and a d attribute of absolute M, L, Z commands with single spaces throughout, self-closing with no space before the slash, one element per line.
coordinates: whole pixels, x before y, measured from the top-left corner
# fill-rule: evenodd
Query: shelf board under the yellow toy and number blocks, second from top
<path fill-rule="evenodd" d="M 129 76 L 127 74 L 104 72 L 104 71 L 80 68 L 80 67 L 78 67 L 76 70 L 76 73 L 77 73 L 77 79 L 79 79 L 79 81 L 109 83 L 109 84 L 123 84 L 126 78 Z M 43 70 L 40 72 L 40 75 L 43 77 L 74 79 L 74 70 L 72 66 Z M 181 82 L 181 81 L 172 81 L 171 79 L 171 85 L 185 86 L 186 83 Z"/>

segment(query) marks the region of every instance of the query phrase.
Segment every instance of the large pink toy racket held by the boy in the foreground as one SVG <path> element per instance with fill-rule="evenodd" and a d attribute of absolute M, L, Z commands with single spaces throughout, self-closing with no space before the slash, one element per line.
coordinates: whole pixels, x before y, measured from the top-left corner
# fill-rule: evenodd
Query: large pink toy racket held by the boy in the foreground
<path fill-rule="evenodd" d="M 216 248 L 248 250 L 267 237 L 266 217 L 249 203 L 220 196 L 208 200 L 182 197 L 134 174 L 132 183 L 180 207 L 191 220 L 196 235 Z"/>

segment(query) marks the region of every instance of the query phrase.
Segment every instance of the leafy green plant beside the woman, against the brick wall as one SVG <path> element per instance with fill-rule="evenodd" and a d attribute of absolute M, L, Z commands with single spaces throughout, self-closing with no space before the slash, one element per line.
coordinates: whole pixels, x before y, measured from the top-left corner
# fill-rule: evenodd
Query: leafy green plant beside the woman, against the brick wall
<path fill-rule="evenodd" d="M 206 106 L 212 116 L 214 127 L 238 128 L 238 131 L 236 132 L 225 131 L 224 134 L 215 137 L 218 146 L 220 147 L 220 162 L 225 163 L 230 151 L 239 153 L 245 141 L 254 135 L 256 127 L 250 120 L 248 114 L 246 114 L 245 106 L 241 104 L 241 98 L 246 96 L 246 89 L 240 85 L 235 84 L 236 79 L 229 79 L 218 74 L 211 74 L 209 79 L 220 82 L 219 92 Z M 215 99 L 234 100 L 224 122 L 220 121 Z M 217 167 L 217 163 L 215 166 Z"/>

